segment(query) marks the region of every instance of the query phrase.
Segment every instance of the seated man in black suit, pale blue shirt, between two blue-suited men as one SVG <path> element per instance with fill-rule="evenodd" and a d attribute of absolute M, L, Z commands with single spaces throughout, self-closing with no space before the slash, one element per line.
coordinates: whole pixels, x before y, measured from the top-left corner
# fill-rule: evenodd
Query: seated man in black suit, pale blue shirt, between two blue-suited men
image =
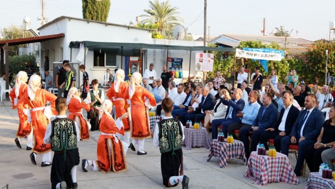
<path fill-rule="evenodd" d="M 280 152 L 280 142 L 283 137 L 291 134 L 292 126 L 297 120 L 299 110 L 292 106 L 293 94 L 290 91 L 283 93 L 283 104 L 285 108 L 280 111 L 280 116 L 277 124 L 273 127 L 265 129 L 266 132 L 261 134 L 261 143 L 268 149 L 268 140 L 274 140 L 274 147 L 277 152 Z"/>

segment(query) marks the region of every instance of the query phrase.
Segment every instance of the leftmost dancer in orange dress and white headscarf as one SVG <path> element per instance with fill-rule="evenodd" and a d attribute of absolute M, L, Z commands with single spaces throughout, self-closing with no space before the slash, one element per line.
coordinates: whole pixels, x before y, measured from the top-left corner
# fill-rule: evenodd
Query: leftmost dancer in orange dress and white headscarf
<path fill-rule="evenodd" d="M 17 102 L 20 98 L 27 93 L 28 85 L 26 84 L 28 81 L 28 75 L 25 71 L 19 71 L 17 74 L 17 80 L 15 81 L 15 86 L 12 91 L 9 93 L 9 96 L 12 99 L 12 108 L 17 108 Z M 17 110 L 18 112 L 18 110 Z M 25 106 L 23 110 L 23 115 L 19 115 L 20 123 L 18 124 L 17 128 L 17 138 L 14 140 L 17 144 L 18 148 L 21 147 L 21 140 L 22 138 L 27 137 L 27 150 L 31 150 L 33 148 L 33 130 L 31 120 L 28 120 L 28 115 L 30 115 L 30 110 L 28 106 Z M 22 123 L 22 125 L 21 125 Z"/>

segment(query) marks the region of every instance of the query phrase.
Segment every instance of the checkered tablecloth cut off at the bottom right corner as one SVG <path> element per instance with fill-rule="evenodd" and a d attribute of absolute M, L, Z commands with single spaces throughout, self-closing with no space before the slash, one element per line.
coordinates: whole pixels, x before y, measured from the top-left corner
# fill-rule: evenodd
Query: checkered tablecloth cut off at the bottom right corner
<path fill-rule="evenodd" d="M 322 178 L 318 172 L 310 173 L 305 189 L 335 189 L 335 180 Z"/>

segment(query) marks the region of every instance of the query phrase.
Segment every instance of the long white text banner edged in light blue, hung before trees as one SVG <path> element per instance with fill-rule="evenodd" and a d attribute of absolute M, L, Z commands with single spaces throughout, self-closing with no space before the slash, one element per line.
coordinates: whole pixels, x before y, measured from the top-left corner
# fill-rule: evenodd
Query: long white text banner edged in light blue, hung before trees
<path fill-rule="evenodd" d="M 271 53 L 271 52 L 256 52 L 241 50 L 236 48 L 236 57 L 242 57 L 247 59 L 258 59 L 258 60 L 268 60 L 268 61 L 281 61 L 281 53 Z"/>

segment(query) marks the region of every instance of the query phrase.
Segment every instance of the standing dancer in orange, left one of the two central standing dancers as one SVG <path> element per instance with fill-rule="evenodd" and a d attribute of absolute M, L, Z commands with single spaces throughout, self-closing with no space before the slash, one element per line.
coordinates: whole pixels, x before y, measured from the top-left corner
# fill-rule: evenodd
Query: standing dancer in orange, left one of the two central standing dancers
<path fill-rule="evenodd" d="M 122 69 L 117 69 L 115 74 L 115 81 L 112 83 L 111 88 L 107 92 L 108 98 L 114 103 L 117 116 L 116 118 L 121 117 L 122 114 L 128 111 L 129 113 L 129 105 L 126 103 L 126 100 L 123 98 L 123 94 L 127 90 L 128 84 L 124 82 L 124 71 Z M 130 120 L 122 119 L 123 126 L 124 126 L 124 137 L 117 135 L 121 141 L 130 143 Z M 128 145 L 133 151 L 135 151 L 135 147 L 133 143 Z"/>

